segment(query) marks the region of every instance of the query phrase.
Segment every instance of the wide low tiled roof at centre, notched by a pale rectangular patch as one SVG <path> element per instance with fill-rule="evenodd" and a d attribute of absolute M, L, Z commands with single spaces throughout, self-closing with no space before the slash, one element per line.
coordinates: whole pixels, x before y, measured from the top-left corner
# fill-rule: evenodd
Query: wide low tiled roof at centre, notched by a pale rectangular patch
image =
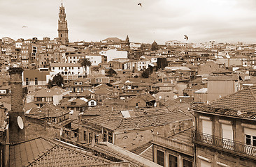
<path fill-rule="evenodd" d="M 191 116 L 180 109 L 171 110 L 167 107 L 157 107 L 134 111 L 134 117 L 130 118 L 124 118 L 121 111 L 108 111 L 101 116 L 87 120 L 87 122 L 112 130 L 125 130 L 161 126 L 169 122 L 190 119 L 192 119 Z"/>

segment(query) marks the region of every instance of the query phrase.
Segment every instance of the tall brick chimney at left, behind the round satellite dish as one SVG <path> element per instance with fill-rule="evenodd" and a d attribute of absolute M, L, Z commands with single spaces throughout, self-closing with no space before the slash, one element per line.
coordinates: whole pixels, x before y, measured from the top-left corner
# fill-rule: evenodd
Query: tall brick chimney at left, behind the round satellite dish
<path fill-rule="evenodd" d="M 24 122 L 23 100 L 22 100 L 22 67 L 10 67 L 10 102 L 9 112 L 9 134 L 10 143 L 25 140 L 25 130 L 17 125 L 17 117 L 20 116 Z"/>

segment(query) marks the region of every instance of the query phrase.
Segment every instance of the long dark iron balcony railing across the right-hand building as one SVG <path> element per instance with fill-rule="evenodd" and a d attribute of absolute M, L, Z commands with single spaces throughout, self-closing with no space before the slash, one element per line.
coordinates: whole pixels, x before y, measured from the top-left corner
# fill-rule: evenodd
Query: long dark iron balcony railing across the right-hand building
<path fill-rule="evenodd" d="M 239 141 L 232 141 L 227 138 L 201 134 L 199 132 L 193 132 L 192 141 L 193 143 L 232 153 L 240 157 L 256 159 L 256 147 Z"/>

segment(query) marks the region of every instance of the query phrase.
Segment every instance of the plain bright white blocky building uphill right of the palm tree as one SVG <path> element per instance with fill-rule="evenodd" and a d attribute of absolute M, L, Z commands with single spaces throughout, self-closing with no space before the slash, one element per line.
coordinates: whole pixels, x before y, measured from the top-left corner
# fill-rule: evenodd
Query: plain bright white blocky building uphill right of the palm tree
<path fill-rule="evenodd" d="M 127 51 L 120 51 L 117 49 L 110 49 L 107 51 L 101 51 L 99 54 L 107 57 L 107 61 L 113 61 L 115 58 L 128 58 Z"/>

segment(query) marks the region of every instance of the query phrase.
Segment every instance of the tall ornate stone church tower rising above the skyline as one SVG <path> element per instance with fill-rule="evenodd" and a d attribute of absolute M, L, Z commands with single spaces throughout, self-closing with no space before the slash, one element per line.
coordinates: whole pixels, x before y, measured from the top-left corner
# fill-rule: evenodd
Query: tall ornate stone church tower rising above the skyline
<path fill-rule="evenodd" d="M 59 41 L 62 42 L 63 45 L 68 45 L 69 43 L 69 34 L 68 34 L 68 23 L 66 21 L 66 13 L 65 8 L 62 6 L 59 7 L 59 22 L 58 22 L 58 33 L 59 33 Z"/>

